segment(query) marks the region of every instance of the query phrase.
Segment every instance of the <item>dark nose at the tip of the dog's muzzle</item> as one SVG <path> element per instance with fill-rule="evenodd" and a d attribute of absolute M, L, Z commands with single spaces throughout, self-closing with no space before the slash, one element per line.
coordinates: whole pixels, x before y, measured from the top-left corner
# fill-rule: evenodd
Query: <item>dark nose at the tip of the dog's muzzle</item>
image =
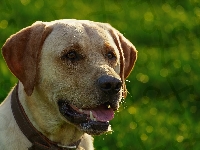
<path fill-rule="evenodd" d="M 122 86 L 121 80 L 108 75 L 101 76 L 97 81 L 101 91 L 107 94 L 117 94 Z"/>

